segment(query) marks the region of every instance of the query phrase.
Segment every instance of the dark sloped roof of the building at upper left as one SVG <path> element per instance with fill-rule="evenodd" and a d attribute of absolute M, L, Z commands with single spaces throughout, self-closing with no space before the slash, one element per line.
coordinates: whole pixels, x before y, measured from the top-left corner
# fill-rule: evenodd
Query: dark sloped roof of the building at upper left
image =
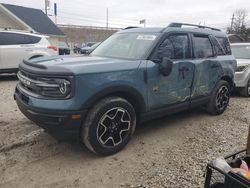
<path fill-rule="evenodd" d="M 10 4 L 2 5 L 36 32 L 47 35 L 64 36 L 64 33 L 42 10 Z"/>

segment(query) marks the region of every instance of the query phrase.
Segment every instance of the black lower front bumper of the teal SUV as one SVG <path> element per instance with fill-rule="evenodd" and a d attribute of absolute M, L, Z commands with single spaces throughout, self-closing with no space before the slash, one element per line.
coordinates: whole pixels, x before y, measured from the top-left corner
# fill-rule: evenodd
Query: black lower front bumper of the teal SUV
<path fill-rule="evenodd" d="M 29 105 L 30 97 L 16 88 L 14 99 L 20 111 L 38 126 L 49 131 L 79 132 L 87 110 L 40 109 Z"/>

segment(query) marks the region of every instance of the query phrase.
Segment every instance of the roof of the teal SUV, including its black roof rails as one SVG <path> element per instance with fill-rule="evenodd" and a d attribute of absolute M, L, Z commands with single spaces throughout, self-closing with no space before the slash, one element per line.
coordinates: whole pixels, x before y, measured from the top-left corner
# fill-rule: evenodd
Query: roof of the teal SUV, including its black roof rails
<path fill-rule="evenodd" d="M 190 28 L 190 27 L 174 27 L 174 26 L 167 26 L 167 27 L 146 27 L 146 28 L 131 28 L 131 29 L 125 29 L 119 31 L 119 33 L 165 33 L 165 32 L 171 32 L 171 31 L 177 31 L 177 32 L 191 32 L 191 33 L 200 33 L 200 34 L 208 34 L 208 35 L 214 35 L 214 36 L 221 36 L 225 37 L 226 33 L 210 29 L 210 28 Z"/>

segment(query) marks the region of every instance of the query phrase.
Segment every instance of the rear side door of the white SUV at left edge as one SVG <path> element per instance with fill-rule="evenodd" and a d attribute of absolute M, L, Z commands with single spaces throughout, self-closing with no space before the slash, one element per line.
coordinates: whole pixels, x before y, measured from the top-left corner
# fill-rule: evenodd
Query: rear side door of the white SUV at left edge
<path fill-rule="evenodd" d="M 18 68 L 18 64 L 28 57 L 32 46 L 24 34 L 2 33 L 1 62 L 3 69 Z"/>

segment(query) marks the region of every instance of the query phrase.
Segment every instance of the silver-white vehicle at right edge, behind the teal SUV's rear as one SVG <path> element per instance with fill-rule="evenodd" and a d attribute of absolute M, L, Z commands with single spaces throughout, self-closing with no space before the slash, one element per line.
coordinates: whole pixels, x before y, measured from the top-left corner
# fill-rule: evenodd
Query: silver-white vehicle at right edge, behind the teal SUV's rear
<path fill-rule="evenodd" d="M 235 85 L 241 95 L 250 97 L 250 43 L 232 43 L 232 53 L 237 59 Z"/>

